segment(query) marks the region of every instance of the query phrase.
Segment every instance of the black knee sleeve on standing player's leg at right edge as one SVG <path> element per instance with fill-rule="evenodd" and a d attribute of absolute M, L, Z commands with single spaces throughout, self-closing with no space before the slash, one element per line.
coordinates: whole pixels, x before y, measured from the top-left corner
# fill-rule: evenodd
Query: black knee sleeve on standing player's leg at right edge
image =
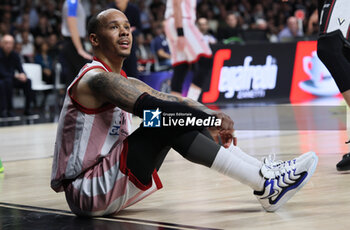
<path fill-rule="evenodd" d="M 350 62 L 344 55 L 344 40 L 340 31 L 319 37 L 317 55 L 332 74 L 340 92 L 350 89 Z"/>

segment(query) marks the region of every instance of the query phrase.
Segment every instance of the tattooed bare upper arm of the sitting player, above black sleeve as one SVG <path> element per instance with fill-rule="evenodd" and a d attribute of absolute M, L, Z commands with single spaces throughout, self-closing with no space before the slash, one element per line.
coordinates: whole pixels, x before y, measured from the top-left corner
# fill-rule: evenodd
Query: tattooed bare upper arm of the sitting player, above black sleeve
<path fill-rule="evenodd" d="M 137 98 L 143 93 L 120 74 L 99 72 L 84 78 L 96 98 L 112 103 L 127 112 L 133 111 Z"/>

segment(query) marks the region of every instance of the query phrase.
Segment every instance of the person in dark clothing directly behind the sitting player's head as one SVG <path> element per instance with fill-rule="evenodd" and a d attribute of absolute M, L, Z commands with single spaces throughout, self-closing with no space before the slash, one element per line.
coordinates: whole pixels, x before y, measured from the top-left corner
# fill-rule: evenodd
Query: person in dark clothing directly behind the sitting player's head
<path fill-rule="evenodd" d="M 131 25 L 131 32 L 133 37 L 137 37 L 142 31 L 140 10 L 139 8 L 129 2 L 129 0 L 115 0 L 108 5 L 108 8 L 115 8 L 122 11 L 128 18 Z M 139 72 L 137 71 L 137 58 L 136 58 L 136 39 L 132 42 L 132 48 L 130 56 L 124 61 L 123 70 L 128 76 L 139 77 Z"/>

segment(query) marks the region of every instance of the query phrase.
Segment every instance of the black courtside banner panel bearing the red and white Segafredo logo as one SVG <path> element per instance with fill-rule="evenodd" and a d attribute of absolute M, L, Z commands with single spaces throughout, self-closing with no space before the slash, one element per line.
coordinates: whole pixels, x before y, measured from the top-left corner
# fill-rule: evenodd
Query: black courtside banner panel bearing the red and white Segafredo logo
<path fill-rule="evenodd" d="M 296 43 L 214 45 L 203 103 L 289 98 Z"/>

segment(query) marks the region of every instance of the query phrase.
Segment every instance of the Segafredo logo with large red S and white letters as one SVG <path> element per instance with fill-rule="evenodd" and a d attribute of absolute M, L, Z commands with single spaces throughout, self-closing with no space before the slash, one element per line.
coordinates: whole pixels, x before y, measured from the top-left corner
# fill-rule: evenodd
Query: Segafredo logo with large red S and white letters
<path fill-rule="evenodd" d="M 221 49 L 215 53 L 210 88 L 208 92 L 203 93 L 202 102 L 215 102 L 220 92 L 224 93 L 225 98 L 264 97 L 266 90 L 276 87 L 276 58 L 267 55 L 265 64 L 252 65 L 253 57 L 246 56 L 243 65 L 224 66 L 224 62 L 230 58 L 230 49 Z"/>

